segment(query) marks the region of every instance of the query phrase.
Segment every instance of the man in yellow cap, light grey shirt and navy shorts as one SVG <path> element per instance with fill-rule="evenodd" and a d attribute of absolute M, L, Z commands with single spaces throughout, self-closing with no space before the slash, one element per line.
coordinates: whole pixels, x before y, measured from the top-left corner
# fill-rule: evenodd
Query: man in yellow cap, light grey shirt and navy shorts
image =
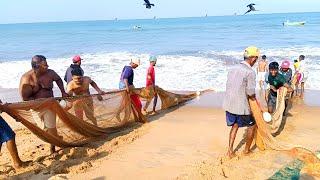
<path fill-rule="evenodd" d="M 244 61 L 232 68 L 228 73 L 223 109 L 226 111 L 227 125 L 231 126 L 227 152 L 229 158 L 235 156 L 233 144 L 239 127 L 248 127 L 244 154 L 251 152 L 250 147 L 256 129 L 256 122 L 251 114 L 248 98 L 256 100 L 256 73 L 252 66 L 259 56 L 258 48 L 248 47 L 244 52 Z"/>

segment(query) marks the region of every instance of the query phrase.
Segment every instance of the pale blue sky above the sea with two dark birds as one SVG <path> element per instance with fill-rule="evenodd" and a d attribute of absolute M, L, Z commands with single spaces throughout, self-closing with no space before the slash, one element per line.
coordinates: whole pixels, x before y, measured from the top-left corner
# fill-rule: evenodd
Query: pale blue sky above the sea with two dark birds
<path fill-rule="evenodd" d="M 109 19 L 148 19 L 242 14 L 256 3 L 256 13 L 319 12 L 320 0 L 1 0 L 0 24 Z"/>

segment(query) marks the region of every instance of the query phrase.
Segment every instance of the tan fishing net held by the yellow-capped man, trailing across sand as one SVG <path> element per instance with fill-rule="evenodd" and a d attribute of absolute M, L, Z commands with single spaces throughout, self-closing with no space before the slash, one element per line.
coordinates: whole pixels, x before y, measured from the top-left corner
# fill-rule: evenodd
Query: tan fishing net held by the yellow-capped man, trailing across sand
<path fill-rule="evenodd" d="M 263 120 L 263 115 L 257 101 L 249 100 L 252 114 L 257 123 L 256 145 L 259 150 L 272 149 L 284 151 L 304 162 L 303 171 L 320 178 L 320 159 L 312 151 L 293 144 L 278 141 L 273 137 L 273 133 L 278 131 L 282 123 L 282 114 L 285 109 L 286 88 L 278 90 L 277 108 L 273 114 L 272 123 L 269 125 Z"/>

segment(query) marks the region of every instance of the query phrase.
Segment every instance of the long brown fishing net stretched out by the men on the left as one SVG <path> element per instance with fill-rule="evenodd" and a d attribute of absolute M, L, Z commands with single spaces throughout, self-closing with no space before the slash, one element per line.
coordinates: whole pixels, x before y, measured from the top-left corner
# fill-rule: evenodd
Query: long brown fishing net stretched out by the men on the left
<path fill-rule="evenodd" d="M 159 87 L 155 90 L 161 99 L 160 110 L 197 96 L 197 93 L 175 94 Z M 0 109 L 43 141 L 59 147 L 74 147 L 117 132 L 132 122 L 147 122 L 137 97 L 150 101 L 154 94 L 153 88 L 141 88 L 132 90 L 131 94 L 113 91 L 103 95 L 65 98 L 65 105 L 59 103 L 62 98 L 52 98 L 1 105 Z M 56 121 L 58 136 L 48 133 L 44 125 L 44 121 L 52 117 Z"/>

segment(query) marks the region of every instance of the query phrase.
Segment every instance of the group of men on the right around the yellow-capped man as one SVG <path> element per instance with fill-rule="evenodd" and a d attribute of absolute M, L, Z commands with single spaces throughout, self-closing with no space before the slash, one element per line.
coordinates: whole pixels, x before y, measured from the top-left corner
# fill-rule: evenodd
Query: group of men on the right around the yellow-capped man
<path fill-rule="evenodd" d="M 256 100 L 256 77 L 260 89 L 264 89 L 265 82 L 269 86 L 266 91 L 267 111 L 269 113 L 276 110 L 277 92 L 280 88 L 287 88 L 287 98 L 291 98 L 292 92 L 294 92 L 293 87 L 295 87 L 296 95 L 299 86 L 301 87 L 300 93 L 304 92 L 304 84 L 307 80 L 304 55 L 300 55 L 299 59 L 294 61 L 294 74 L 290 68 L 290 61 L 284 60 L 281 66 L 275 61 L 268 64 L 266 55 L 261 56 L 255 72 L 253 66 L 259 60 L 259 57 L 260 50 L 257 47 L 246 48 L 244 61 L 228 73 L 223 108 L 226 111 L 227 126 L 231 127 L 227 151 L 230 158 L 235 156 L 233 144 L 239 127 L 248 127 L 244 154 L 250 153 L 256 122 L 252 116 L 248 99 Z M 288 104 L 287 101 L 288 99 L 285 100 L 285 106 Z M 265 111 L 263 107 L 261 107 L 261 110 Z"/>

